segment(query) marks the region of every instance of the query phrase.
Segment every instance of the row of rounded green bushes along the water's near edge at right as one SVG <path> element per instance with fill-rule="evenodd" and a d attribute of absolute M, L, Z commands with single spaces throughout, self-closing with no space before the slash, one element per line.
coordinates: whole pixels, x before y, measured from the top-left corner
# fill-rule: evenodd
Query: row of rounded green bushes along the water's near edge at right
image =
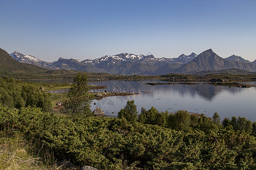
<path fill-rule="evenodd" d="M 131 109 L 132 108 L 132 109 Z M 129 122 L 138 121 L 142 124 L 158 125 L 181 131 L 201 130 L 204 132 L 218 131 L 223 128 L 229 130 L 243 130 L 248 134 L 256 134 L 256 122 L 252 123 L 245 117 L 224 118 L 221 124 L 218 113 L 213 114 L 213 118 L 209 118 L 204 114 L 189 114 L 187 111 L 177 111 L 176 113 L 158 112 L 156 108 L 151 107 L 148 111 L 141 109 L 138 118 L 130 119 L 137 112 L 137 106 L 134 101 L 127 101 L 124 109 L 118 113 L 118 118 L 126 118 Z"/>

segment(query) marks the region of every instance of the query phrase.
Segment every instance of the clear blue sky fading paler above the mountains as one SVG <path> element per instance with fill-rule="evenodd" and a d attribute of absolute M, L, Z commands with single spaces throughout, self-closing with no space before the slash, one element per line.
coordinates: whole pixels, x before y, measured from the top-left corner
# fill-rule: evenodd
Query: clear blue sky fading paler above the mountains
<path fill-rule="evenodd" d="M 256 1 L 1 0 L 0 48 L 44 61 L 212 49 L 256 59 Z"/>

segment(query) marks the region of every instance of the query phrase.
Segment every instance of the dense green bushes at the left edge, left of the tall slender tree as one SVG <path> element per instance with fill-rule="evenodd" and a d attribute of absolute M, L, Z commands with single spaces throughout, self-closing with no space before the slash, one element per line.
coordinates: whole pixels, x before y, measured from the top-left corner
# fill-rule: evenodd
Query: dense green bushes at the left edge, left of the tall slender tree
<path fill-rule="evenodd" d="M 50 111 L 52 109 L 50 95 L 19 80 L 0 78 L 0 103 L 10 108 L 30 105 L 42 108 L 43 111 Z"/>

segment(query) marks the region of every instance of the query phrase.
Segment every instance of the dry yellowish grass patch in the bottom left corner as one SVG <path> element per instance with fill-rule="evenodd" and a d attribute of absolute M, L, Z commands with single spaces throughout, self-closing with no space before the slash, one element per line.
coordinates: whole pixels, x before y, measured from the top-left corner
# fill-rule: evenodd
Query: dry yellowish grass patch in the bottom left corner
<path fill-rule="evenodd" d="M 53 154 L 39 156 L 33 143 L 23 139 L 20 134 L 0 135 L 0 169 L 78 169 L 68 161 L 56 162 Z M 68 167 L 69 166 L 69 167 Z"/>

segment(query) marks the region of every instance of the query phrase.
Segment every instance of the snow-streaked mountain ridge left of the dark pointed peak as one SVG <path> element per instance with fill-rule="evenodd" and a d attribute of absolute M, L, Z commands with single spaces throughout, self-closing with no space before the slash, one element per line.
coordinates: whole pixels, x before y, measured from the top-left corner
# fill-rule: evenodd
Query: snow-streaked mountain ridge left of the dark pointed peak
<path fill-rule="evenodd" d="M 54 62 L 46 62 L 42 59 L 24 55 L 19 52 L 10 54 L 19 62 L 30 63 L 32 65 L 44 67 L 46 69 L 79 70 L 93 73 L 106 72 L 110 74 L 141 74 L 152 75 L 156 73 L 164 74 L 164 69 L 160 67 L 177 68 L 191 61 L 196 57 L 195 53 L 185 56 L 182 54 L 177 58 L 155 58 L 153 55 L 136 55 L 129 53 L 116 54 L 114 56 L 104 56 L 96 59 L 65 59 L 59 58 Z"/>

